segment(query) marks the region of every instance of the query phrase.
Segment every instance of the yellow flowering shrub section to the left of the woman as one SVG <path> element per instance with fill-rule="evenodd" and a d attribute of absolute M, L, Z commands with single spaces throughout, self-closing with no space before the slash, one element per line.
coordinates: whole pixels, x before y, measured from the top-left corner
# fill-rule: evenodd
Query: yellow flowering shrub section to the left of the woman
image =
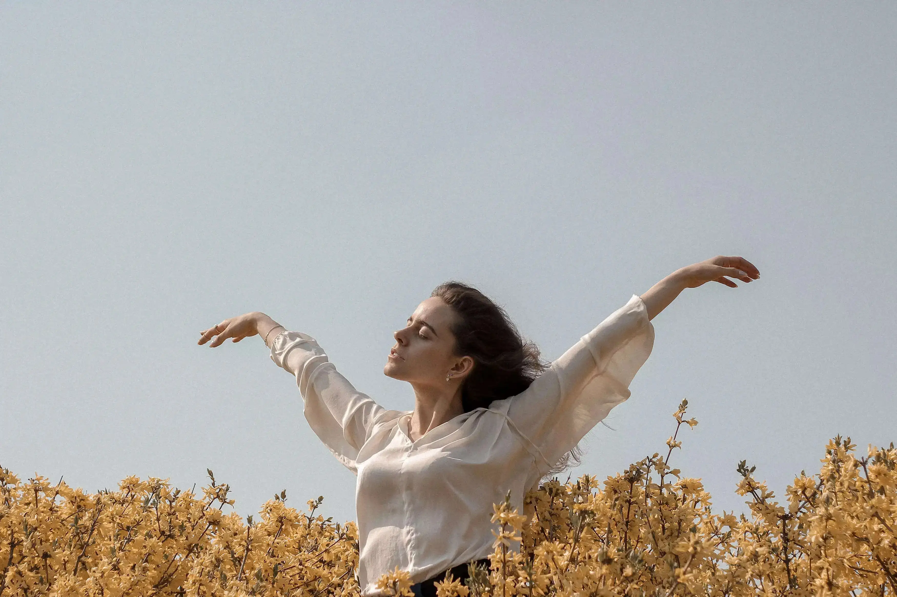
<path fill-rule="evenodd" d="M 228 486 L 202 496 L 128 477 L 85 494 L 0 470 L 0 597 L 14 595 L 358 595 L 358 532 L 286 507 L 259 519 L 222 512 Z"/>

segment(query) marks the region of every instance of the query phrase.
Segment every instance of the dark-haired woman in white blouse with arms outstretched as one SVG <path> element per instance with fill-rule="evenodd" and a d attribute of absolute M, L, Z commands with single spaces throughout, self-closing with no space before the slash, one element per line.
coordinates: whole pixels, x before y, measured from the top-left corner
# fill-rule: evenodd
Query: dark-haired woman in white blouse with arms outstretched
<path fill-rule="evenodd" d="M 740 257 L 676 270 L 544 366 L 501 307 L 448 282 L 418 305 L 383 372 L 414 388 L 414 410 L 390 411 L 353 388 L 314 338 L 264 313 L 223 320 L 199 344 L 260 335 L 295 376 L 312 430 L 358 476 L 362 595 L 395 567 L 415 594 L 492 552 L 492 504 L 524 494 L 566 462 L 579 440 L 630 396 L 654 342 L 650 320 L 685 288 L 760 277 Z"/>

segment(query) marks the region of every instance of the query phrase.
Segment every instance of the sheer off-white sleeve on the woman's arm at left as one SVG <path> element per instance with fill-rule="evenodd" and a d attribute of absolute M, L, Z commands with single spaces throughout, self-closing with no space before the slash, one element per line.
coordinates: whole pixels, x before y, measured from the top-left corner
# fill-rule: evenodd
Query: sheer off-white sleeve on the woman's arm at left
<path fill-rule="evenodd" d="M 318 341 L 307 334 L 284 331 L 275 337 L 271 360 L 295 376 L 312 431 L 346 468 L 358 474 L 355 460 L 383 407 L 336 371 Z"/>

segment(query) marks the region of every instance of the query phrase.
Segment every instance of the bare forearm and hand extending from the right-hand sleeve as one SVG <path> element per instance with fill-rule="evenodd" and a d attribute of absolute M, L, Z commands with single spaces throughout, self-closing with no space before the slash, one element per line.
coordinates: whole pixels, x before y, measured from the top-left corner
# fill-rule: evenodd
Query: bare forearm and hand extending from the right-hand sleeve
<path fill-rule="evenodd" d="M 707 282 L 718 282 L 732 288 L 738 285 L 728 278 L 742 282 L 750 282 L 760 277 L 756 269 L 743 257 L 724 257 L 718 255 L 712 259 L 676 269 L 672 274 L 651 286 L 641 300 L 648 308 L 648 319 L 653 320 L 660 311 L 666 309 L 685 288 L 697 288 Z"/>

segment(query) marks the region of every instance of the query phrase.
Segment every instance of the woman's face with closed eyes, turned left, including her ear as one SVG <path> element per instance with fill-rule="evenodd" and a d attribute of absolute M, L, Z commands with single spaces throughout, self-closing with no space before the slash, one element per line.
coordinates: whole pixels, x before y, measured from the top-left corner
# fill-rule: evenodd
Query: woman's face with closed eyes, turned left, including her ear
<path fill-rule="evenodd" d="M 469 356 L 455 355 L 451 326 L 457 315 L 438 296 L 417 306 L 405 325 L 396 330 L 383 373 L 395 380 L 423 386 L 448 387 L 446 376 L 461 379 L 473 366 Z"/>

